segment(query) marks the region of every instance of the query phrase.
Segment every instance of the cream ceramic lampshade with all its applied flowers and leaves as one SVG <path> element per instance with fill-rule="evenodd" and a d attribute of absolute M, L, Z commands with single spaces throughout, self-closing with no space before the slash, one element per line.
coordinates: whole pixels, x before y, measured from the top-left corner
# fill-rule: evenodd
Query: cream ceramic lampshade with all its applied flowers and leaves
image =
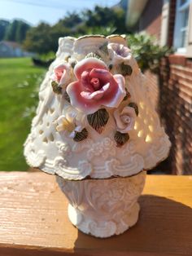
<path fill-rule="evenodd" d="M 24 144 L 28 164 L 69 180 L 127 177 L 169 148 L 124 37 L 59 38 Z"/>

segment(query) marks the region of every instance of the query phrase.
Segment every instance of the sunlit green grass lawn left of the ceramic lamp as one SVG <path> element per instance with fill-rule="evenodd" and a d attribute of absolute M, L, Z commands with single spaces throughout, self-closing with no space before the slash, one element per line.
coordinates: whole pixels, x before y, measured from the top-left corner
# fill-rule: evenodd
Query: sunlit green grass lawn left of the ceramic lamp
<path fill-rule="evenodd" d="M 0 170 L 27 170 L 23 143 L 45 68 L 29 58 L 0 59 Z"/>

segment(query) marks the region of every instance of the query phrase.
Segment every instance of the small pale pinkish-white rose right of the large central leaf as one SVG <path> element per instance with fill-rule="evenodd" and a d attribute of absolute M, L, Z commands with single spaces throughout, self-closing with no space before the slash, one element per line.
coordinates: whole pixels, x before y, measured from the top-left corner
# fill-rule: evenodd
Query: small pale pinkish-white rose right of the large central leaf
<path fill-rule="evenodd" d="M 119 109 L 116 109 L 114 112 L 114 117 L 116 120 L 116 130 L 121 133 L 127 133 L 129 130 L 133 130 L 136 113 L 134 108 L 124 107 L 120 112 Z"/>

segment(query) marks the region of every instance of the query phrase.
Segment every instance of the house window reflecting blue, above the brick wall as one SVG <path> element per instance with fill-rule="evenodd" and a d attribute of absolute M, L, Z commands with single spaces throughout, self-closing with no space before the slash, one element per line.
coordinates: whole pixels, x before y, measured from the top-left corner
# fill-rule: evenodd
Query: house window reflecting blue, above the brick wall
<path fill-rule="evenodd" d="M 177 0 L 173 46 L 178 53 L 185 53 L 188 45 L 190 0 Z"/>

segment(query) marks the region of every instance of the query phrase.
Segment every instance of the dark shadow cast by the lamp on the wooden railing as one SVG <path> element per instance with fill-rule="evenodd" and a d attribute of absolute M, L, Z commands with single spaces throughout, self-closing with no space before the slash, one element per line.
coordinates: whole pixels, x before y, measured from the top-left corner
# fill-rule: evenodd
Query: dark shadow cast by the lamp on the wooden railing
<path fill-rule="evenodd" d="M 134 227 L 104 240 L 78 232 L 75 252 L 85 255 L 86 248 L 88 255 L 192 255 L 192 209 L 161 196 L 143 195 L 139 201 L 140 218 Z"/>

